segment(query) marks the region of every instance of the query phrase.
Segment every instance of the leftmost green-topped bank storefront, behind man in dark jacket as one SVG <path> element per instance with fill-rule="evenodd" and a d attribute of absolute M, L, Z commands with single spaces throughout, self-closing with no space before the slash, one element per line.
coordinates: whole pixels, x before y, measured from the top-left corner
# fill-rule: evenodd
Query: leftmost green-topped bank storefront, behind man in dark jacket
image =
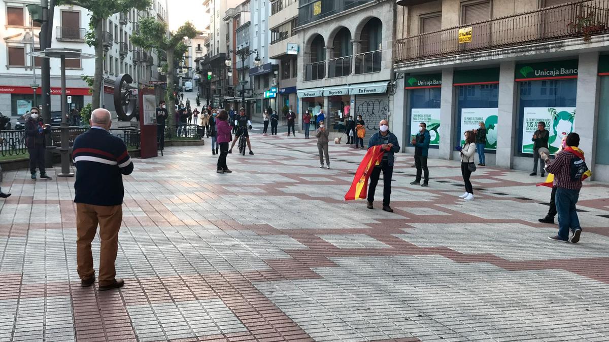
<path fill-rule="evenodd" d="M 431 148 L 440 145 L 440 94 L 442 88 L 442 74 L 410 75 L 406 76 L 407 105 L 406 113 L 410 117 L 406 131 L 410 132 L 412 140 L 418 133 L 418 125 L 424 122 L 427 125 L 431 141 Z M 404 116 L 406 116 L 404 113 Z M 407 146 L 410 146 L 408 144 Z"/>

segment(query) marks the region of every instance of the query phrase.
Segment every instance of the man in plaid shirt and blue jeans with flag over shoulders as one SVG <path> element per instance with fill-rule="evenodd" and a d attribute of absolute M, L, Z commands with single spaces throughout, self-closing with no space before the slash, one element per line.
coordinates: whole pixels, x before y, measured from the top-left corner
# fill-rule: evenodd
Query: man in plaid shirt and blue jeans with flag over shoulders
<path fill-rule="evenodd" d="M 549 239 L 577 243 L 582 234 L 582 227 L 579 225 L 576 203 L 582 189 L 582 181 L 591 175 L 586 167 L 583 152 L 579 149 L 579 134 L 568 134 L 565 149 L 558 153 L 554 161 L 546 159 L 546 170 L 554 174 L 558 211 L 558 235 Z M 571 239 L 569 230 L 573 232 Z"/>

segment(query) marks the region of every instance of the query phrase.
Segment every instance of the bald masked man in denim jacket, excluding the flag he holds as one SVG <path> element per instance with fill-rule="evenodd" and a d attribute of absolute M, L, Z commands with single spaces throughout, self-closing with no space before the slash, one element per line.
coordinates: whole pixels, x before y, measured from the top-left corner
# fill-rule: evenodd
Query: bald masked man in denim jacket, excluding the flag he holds
<path fill-rule="evenodd" d="M 393 161 L 395 157 L 393 153 L 400 152 L 400 143 L 395 134 L 389 131 L 389 121 L 381 120 L 379 122 L 379 131 L 373 134 L 368 141 L 368 148 L 381 145 L 381 148 L 385 150 L 382 155 L 381 162 L 375 166 L 370 174 L 370 186 L 368 186 L 368 209 L 374 209 L 376 184 L 379 182 L 379 177 L 383 178 L 383 192 L 382 192 L 382 209 L 387 212 L 393 212 L 393 209 L 389 206 L 391 200 L 391 178 L 393 175 Z"/>

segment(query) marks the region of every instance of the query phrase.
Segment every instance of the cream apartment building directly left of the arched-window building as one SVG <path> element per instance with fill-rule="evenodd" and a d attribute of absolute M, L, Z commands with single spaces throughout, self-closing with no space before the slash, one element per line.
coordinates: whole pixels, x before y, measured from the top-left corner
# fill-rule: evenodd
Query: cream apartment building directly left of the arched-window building
<path fill-rule="evenodd" d="M 275 96 L 279 108 L 291 108 L 297 112 L 298 0 L 271 1 L 270 9 L 269 58 L 278 64 Z"/>

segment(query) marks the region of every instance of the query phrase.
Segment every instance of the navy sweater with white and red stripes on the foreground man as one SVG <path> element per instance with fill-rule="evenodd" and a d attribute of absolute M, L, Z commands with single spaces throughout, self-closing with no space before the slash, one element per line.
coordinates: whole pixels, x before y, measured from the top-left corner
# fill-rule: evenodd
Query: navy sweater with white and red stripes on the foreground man
<path fill-rule="evenodd" d="M 133 172 L 127 146 L 107 130 L 91 128 L 74 140 L 75 203 L 97 206 L 122 204 L 122 175 Z"/>

